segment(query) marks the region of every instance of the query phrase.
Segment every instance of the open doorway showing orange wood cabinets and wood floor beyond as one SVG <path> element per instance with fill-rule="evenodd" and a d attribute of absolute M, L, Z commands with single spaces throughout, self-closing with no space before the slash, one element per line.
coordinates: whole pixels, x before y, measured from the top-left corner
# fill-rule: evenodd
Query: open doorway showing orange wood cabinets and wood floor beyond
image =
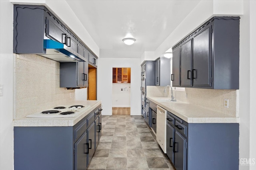
<path fill-rule="evenodd" d="M 112 115 L 130 115 L 131 68 L 112 68 Z"/>

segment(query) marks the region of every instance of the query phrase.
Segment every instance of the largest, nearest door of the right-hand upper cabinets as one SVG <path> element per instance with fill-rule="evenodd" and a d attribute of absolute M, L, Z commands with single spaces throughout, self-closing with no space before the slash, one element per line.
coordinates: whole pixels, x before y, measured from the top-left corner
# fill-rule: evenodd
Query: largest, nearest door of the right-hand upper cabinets
<path fill-rule="evenodd" d="M 211 25 L 193 39 L 193 86 L 211 86 Z"/>

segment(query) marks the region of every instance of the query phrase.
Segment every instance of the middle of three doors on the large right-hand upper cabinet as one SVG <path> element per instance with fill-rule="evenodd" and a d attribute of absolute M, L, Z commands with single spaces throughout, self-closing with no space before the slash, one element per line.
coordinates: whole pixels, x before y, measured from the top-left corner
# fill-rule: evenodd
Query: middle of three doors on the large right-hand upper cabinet
<path fill-rule="evenodd" d="M 181 86 L 192 86 L 192 39 L 180 47 Z"/>

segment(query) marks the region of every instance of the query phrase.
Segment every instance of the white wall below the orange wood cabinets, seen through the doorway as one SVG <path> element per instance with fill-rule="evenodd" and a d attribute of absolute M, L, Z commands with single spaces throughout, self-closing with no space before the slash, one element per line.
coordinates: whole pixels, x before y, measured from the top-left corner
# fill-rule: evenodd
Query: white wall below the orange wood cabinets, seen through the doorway
<path fill-rule="evenodd" d="M 131 84 L 112 83 L 112 107 L 131 106 Z"/>

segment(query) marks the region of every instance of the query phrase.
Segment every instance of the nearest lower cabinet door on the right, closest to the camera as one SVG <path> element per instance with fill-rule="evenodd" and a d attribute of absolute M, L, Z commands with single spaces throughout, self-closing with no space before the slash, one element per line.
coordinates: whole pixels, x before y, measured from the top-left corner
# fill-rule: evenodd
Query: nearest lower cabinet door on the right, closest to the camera
<path fill-rule="evenodd" d="M 186 138 L 175 131 L 174 166 L 176 170 L 186 170 Z"/>

